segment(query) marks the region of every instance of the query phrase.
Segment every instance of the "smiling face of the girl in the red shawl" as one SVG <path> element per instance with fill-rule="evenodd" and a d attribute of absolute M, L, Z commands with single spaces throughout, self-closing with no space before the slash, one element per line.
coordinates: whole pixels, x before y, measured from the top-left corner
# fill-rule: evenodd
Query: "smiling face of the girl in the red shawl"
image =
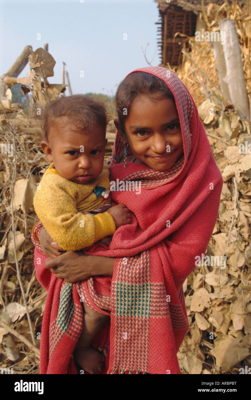
<path fill-rule="evenodd" d="M 156 171 L 171 168 L 183 153 L 179 114 L 168 98 L 135 98 L 125 120 L 125 132 L 134 156 Z"/>

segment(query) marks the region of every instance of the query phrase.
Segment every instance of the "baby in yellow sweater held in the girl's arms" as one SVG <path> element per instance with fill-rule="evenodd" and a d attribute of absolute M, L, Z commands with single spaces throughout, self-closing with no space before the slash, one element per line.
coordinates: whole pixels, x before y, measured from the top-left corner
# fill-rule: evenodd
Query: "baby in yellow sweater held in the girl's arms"
<path fill-rule="evenodd" d="M 104 106 L 84 95 L 63 97 L 43 110 L 42 122 L 41 148 L 52 164 L 38 184 L 33 204 L 53 240 L 65 251 L 80 250 L 130 224 L 125 204 L 110 204 Z M 84 302 L 83 308 L 74 359 L 93 374 L 102 370 L 104 356 L 90 344 L 109 317 Z"/>

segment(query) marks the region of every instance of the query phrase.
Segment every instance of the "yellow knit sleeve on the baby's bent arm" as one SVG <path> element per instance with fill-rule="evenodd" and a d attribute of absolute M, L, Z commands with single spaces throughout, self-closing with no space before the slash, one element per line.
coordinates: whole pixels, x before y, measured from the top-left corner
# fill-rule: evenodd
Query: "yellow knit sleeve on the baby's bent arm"
<path fill-rule="evenodd" d="M 34 196 L 36 214 L 48 234 L 64 250 L 80 250 L 115 232 L 115 223 L 108 212 L 82 214 L 76 208 L 72 190 L 46 176 Z"/>

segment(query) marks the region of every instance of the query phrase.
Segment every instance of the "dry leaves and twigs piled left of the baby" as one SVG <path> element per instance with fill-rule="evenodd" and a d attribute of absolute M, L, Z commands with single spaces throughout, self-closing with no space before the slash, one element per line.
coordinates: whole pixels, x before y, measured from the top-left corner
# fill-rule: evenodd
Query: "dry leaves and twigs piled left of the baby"
<path fill-rule="evenodd" d="M 39 127 L 32 116 L 37 108 L 57 99 L 66 88 L 66 85 L 50 84 L 46 80 L 48 76 L 53 76 L 54 64 L 48 52 L 37 49 L 30 56 L 31 71 L 28 76 L 8 78 L 6 83 L 10 86 L 21 83 L 24 93 L 31 92 L 32 104 L 29 104 L 28 115 L 24 114 L 20 104 L 12 103 L 10 89 L 0 99 L 0 143 L 15 142 L 16 148 L 16 151 L 13 149 L 13 156 L 1 154 L 0 158 L 0 366 L 8 368 L 14 365 L 14 373 L 38 374 L 39 371 L 38 358 L 30 346 L 40 346 L 46 291 L 34 275 L 34 245 L 30 235 L 38 221 L 33 208 L 33 196 L 49 162 L 35 141 L 34 132 Z M 106 159 L 111 155 L 115 132 L 116 128 L 110 121 Z M 17 279 L 16 260 L 24 297 L 21 296 Z M 9 332 L 1 323 L 14 331 Z"/>

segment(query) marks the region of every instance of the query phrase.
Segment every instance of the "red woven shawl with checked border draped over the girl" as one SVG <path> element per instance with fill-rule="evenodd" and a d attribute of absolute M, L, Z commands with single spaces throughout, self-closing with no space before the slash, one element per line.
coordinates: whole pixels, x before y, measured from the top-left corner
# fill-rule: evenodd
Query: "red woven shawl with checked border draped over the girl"
<path fill-rule="evenodd" d="M 110 166 L 111 181 L 141 181 L 141 194 L 112 192 L 114 202 L 131 210 L 132 223 L 116 230 L 108 249 L 94 244 L 86 250 L 116 257 L 112 280 L 95 277 L 73 285 L 62 283 L 51 280 L 50 271 L 35 262 L 38 280 L 45 286 L 44 274 L 53 286 L 43 320 L 42 373 L 66 373 L 82 329 L 79 296 L 94 310 L 110 314 L 107 373 L 181 373 L 177 351 L 189 327 L 182 285 L 195 268 L 195 256 L 207 249 L 223 181 L 195 103 L 181 80 L 163 67 L 135 71 L 156 75 L 171 89 L 184 155 L 164 172 L 132 162 L 126 169 L 123 164 Z M 122 152 L 117 133 L 113 156 Z"/>

